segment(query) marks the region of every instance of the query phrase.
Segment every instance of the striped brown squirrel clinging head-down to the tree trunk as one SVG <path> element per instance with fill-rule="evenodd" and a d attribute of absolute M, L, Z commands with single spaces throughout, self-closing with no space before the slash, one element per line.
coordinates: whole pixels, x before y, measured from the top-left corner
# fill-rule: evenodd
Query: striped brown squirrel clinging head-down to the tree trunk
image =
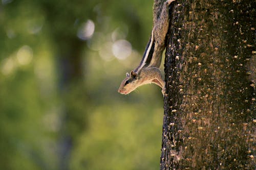
<path fill-rule="evenodd" d="M 162 88 L 165 94 L 165 82 L 159 69 L 162 60 L 162 53 L 165 48 L 165 37 L 169 27 L 169 5 L 175 0 L 167 0 L 164 3 L 155 1 L 153 13 L 153 29 L 150 40 L 145 48 L 142 60 L 137 68 L 122 81 L 118 92 L 129 94 L 137 87 L 155 83 Z"/>

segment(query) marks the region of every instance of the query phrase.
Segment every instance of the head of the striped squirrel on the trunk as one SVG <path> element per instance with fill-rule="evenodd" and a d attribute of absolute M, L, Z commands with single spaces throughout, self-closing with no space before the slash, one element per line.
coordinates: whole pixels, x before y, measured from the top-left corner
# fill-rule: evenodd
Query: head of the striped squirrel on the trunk
<path fill-rule="evenodd" d="M 127 72 L 125 79 L 122 81 L 118 89 L 118 92 L 121 94 L 129 94 L 138 87 L 138 84 L 136 83 L 138 79 L 139 76 L 137 72 L 131 71 L 130 74 Z"/>

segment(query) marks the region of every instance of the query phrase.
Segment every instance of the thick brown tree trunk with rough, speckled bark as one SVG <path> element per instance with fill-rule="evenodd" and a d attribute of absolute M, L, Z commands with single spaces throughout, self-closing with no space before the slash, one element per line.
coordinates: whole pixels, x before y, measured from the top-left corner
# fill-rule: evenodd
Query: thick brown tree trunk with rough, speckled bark
<path fill-rule="evenodd" d="M 255 168 L 255 6 L 171 7 L 161 169 Z"/>

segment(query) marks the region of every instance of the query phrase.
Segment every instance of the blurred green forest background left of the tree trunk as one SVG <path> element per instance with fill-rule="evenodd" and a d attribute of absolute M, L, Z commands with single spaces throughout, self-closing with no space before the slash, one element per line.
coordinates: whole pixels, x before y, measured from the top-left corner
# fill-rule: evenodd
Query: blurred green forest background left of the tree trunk
<path fill-rule="evenodd" d="M 156 85 L 117 93 L 152 1 L 2 0 L 0 169 L 158 169 Z"/>

